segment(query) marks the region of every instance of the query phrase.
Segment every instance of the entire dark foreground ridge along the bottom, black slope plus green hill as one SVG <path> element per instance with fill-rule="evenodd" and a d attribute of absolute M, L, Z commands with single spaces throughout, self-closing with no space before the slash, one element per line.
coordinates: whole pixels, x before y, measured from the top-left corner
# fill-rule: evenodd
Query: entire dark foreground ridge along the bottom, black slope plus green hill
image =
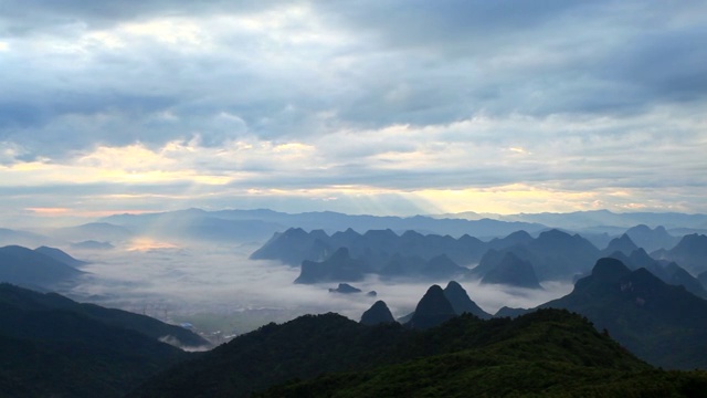
<path fill-rule="evenodd" d="M 426 331 L 308 315 L 236 337 L 130 397 L 689 397 L 705 388 L 705 373 L 654 369 L 581 316 L 544 310 L 466 314 Z"/>

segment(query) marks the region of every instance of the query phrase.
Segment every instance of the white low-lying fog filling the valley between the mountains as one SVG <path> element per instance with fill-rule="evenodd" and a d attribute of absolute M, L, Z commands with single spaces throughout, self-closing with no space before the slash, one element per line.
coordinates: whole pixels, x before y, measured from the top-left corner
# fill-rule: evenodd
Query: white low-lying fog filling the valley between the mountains
<path fill-rule="evenodd" d="M 223 336 L 254 329 L 268 322 L 285 322 L 298 315 L 337 312 L 358 321 L 377 300 L 383 300 L 393 316 L 414 310 L 433 283 L 400 282 L 369 277 L 351 283 L 363 293 L 329 293 L 336 283 L 294 284 L 299 270 L 277 262 L 251 261 L 258 245 L 235 248 L 176 245 L 141 241 L 109 251 L 71 250 L 89 264 L 78 285 L 63 292 L 81 302 L 144 313 L 170 323 L 191 323 L 204 333 Z M 482 285 L 458 281 L 473 301 L 488 313 L 502 306 L 530 307 L 569 293 L 570 283 L 544 283 L 545 290 Z M 376 291 L 376 297 L 366 292 Z"/>

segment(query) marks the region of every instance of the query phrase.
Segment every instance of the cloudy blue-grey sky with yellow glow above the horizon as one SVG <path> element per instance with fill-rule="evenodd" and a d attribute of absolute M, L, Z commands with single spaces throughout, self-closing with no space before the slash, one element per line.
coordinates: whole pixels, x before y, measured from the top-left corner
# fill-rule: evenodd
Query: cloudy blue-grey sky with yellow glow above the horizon
<path fill-rule="evenodd" d="M 0 0 L 0 222 L 707 212 L 703 1 Z"/>

